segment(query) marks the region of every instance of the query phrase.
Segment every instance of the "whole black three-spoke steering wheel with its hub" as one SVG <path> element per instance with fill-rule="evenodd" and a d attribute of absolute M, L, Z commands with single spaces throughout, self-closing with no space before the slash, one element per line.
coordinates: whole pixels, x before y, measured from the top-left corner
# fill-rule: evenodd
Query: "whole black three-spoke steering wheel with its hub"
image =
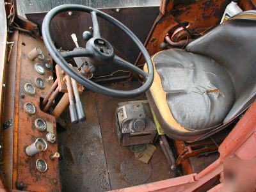
<path fill-rule="evenodd" d="M 61 12 L 67 11 L 81 11 L 91 13 L 92 15 L 92 23 L 93 23 L 93 36 L 90 40 L 86 43 L 86 48 L 79 50 L 79 51 L 70 51 L 61 54 L 57 51 L 56 47 L 52 42 L 52 38 L 50 35 L 50 24 L 52 19 Z M 123 60 L 122 58 L 116 56 L 113 47 L 107 40 L 104 40 L 100 36 L 100 29 L 99 23 L 97 20 L 97 16 L 101 17 L 102 19 L 108 20 L 116 27 L 124 31 L 124 33 L 129 36 L 132 41 L 138 46 L 141 53 L 143 54 L 145 61 L 147 63 L 148 72 L 144 72 L 140 68 L 132 65 L 128 61 Z M 152 65 L 152 61 L 150 56 L 148 55 L 147 50 L 141 44 L 140 40 L 136 35 L 132 33 L 130 29 L 128 29 L 124 24 L 116 20 L 115 18 L 111 17 L 110 15 L 100 12 L 94 8 L 90 8 L 88 6 L 77 5 L 77 4 L 64 4 L 61 6 L 57 6 L 53 8 L 50 12 L 45 15 L 44 22 L 42 24 L 42 36 L 44 38 L 44 43 L 47 48 L 47 51 L 51 54 L 53 60 L 60 65 L 60 67 L 68 74 L 68 76 L 75 79 L 78 83 L 83 84 L 84 87 L 92 90 L 93 92 L 97 92 L 103 95 L 108 95 L 109 97 L 118 97 L 118 98 L 129 98 L 129 97 L 136 97 L 141 93 L 145 93 L 151 86 L 154 80 L 154 67 Z M 143 76 L 144 83 L 134 90 L 114 90 L 111 88 L 106 88 L 97 84 L 90 79 L 82 76 L 74 70 L 70 65 L 68 65 L 65 58 L 67 57 L 78 57 L 84 56 L 89 59 L 89 62 L 92 65 L 99 66 L 99 65 L 108 65 L 108 63 L 115 63 L 116 65 L 121 65 L 136 74 L 140 74 Z"/>

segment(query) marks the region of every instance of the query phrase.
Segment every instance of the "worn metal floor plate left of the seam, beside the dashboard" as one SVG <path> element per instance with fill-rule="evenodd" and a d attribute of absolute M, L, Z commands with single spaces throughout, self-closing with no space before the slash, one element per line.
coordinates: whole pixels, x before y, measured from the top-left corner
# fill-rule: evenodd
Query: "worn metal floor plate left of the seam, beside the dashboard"
<path fill-rule="evenodd" d="M 63 191 L 108 191 L 110 189 L 108 168 L 104 156 L 99 118 L 93 93 L 81 95 L 87 114 L 86 122 L 73 125 L 69 111 L 61 118 L 67 124 L 67 131 L 58 135 L 63 150 L 60 174 Z"/>

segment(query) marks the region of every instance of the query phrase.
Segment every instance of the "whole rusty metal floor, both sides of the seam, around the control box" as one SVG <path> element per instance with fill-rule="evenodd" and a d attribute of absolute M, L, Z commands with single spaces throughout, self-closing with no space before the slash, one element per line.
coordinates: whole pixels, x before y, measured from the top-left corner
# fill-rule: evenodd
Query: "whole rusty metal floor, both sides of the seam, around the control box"
<path fill-rule="evenodd" d="M 119 89 L 131 89 L 134 86 L 137 84 L 111 85 L 112 88 Z M 140 167 L 141 162 L 134 161 L 134 154 L 128 148 L 118 145 L 114 116 L 118 102 L 141 99 L 145 99 L 145 95 L 135 99 L 114 99 L 85 92 L 81 95 L 81 100 L 84 104 L 86 122 L 72 125 L 68 111 L 63 113 L 61 118 L 66 122 L 67 131 L 58 134 L 63 156 L 60 161 L 63 191 L 108 191 L 134 185 L 125 180 L 120 165 L 123 161 L 132 162 L 136 174 L 135 169 Z M 145 166 L 151 166 L 151 171 L 144 173 L 148 175 L 134 175 L 138 180 L 140 177 L 149 178 L 147 183 L 170 177 L 164 154 L 159 145 L 156 147 L 150 164 Z"/>

